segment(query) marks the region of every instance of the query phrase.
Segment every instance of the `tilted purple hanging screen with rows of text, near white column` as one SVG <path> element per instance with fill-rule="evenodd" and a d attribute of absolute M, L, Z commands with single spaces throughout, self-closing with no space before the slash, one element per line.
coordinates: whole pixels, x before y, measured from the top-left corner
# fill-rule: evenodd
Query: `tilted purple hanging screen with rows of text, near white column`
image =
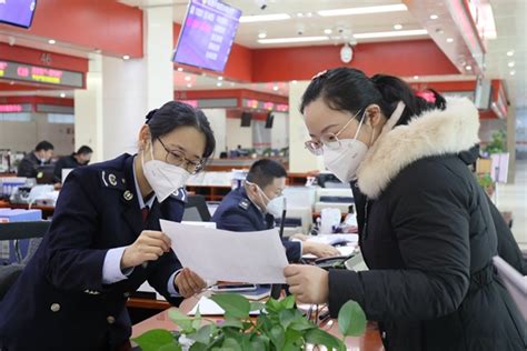
<path fill-rule="evenodd" d="M 219 0 L 190 0 L 173 61 L 222 72 L 240 17 Z"/>

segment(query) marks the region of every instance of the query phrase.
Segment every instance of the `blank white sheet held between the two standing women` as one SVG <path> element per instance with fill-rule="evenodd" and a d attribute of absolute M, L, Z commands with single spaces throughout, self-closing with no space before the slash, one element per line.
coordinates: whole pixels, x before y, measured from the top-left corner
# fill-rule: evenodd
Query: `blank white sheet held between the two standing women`
<path fill-rule="evenodd" d="M 182 267 L 202 279 L 255 284 L 286 282 L 284 268 L 288 262 L 277 229 L 231 232 L 160 222 Z"/>

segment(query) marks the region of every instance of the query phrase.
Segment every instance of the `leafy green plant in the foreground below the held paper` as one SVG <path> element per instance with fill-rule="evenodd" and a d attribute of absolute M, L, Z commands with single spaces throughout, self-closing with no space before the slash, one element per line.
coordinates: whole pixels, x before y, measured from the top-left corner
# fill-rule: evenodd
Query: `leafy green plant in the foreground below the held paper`
<path fill-rule="evenodd" d="M 233 294 L 215 294 L 211 299 L 225 312 L 218 324 L 198 313 L 190 318 L 178 309 L 169 311 L 178 330 L 150 330 L 133 341 L 142 351 L 202 351 L 202 350 L 304 350 L 306 344 L 324 345 L 328 350 L 346 350 L 346 337 L 359 337 L 366 331 L 366 315 L 360 305 L 348 301 L 339 311 L 338 327 L 342 339 L 321 330 L 295 307 L 294 297 L 266 303 L 250 302 Z M 250 311 L 260 311 L 256 320 Z"/>

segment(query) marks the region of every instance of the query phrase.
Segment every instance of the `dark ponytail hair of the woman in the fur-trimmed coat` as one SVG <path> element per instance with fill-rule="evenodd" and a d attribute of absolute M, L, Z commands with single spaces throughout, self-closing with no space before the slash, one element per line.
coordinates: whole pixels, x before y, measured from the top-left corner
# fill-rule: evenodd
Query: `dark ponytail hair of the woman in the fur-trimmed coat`
<path fill-rule="evenodd" d="M 415 94 L 414 90 L 401 79 L 386 74 L 375 74 L 368 78 L 362 71 L 354 68 L 336 68 L 317 76 L 304 92 L 300 112 L 317 100 L 322 98 L 329 108 L 338 111 L 349 111 L 357 114 L 359 110 L 370 104 L 378 104 L 386 118 L 389 118 L 397 103 L 406 104 L 405 111 L 396 126 L 408 124 L 411 118 L 422 112 L 446 108 L 445 98 L 436 92 L 435 102 L 430 103 Z M 360 120 L 362 113 L 356 119 Z"/>

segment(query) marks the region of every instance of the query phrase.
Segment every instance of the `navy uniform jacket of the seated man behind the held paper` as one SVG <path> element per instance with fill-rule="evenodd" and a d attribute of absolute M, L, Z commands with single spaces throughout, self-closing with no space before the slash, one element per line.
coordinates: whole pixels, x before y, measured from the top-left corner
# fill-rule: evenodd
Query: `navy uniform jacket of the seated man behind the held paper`
<path fill-rule="evenodd" d="M 259 231 L 275 228 L 275 217 L 261 211 L 249 200 L 243 188 L 230 191 L 212 215 L 218 229 L 230 231 Z M 282 239 L 290 262 L 299 261 L 302 252 L 299 242 Z"/>

